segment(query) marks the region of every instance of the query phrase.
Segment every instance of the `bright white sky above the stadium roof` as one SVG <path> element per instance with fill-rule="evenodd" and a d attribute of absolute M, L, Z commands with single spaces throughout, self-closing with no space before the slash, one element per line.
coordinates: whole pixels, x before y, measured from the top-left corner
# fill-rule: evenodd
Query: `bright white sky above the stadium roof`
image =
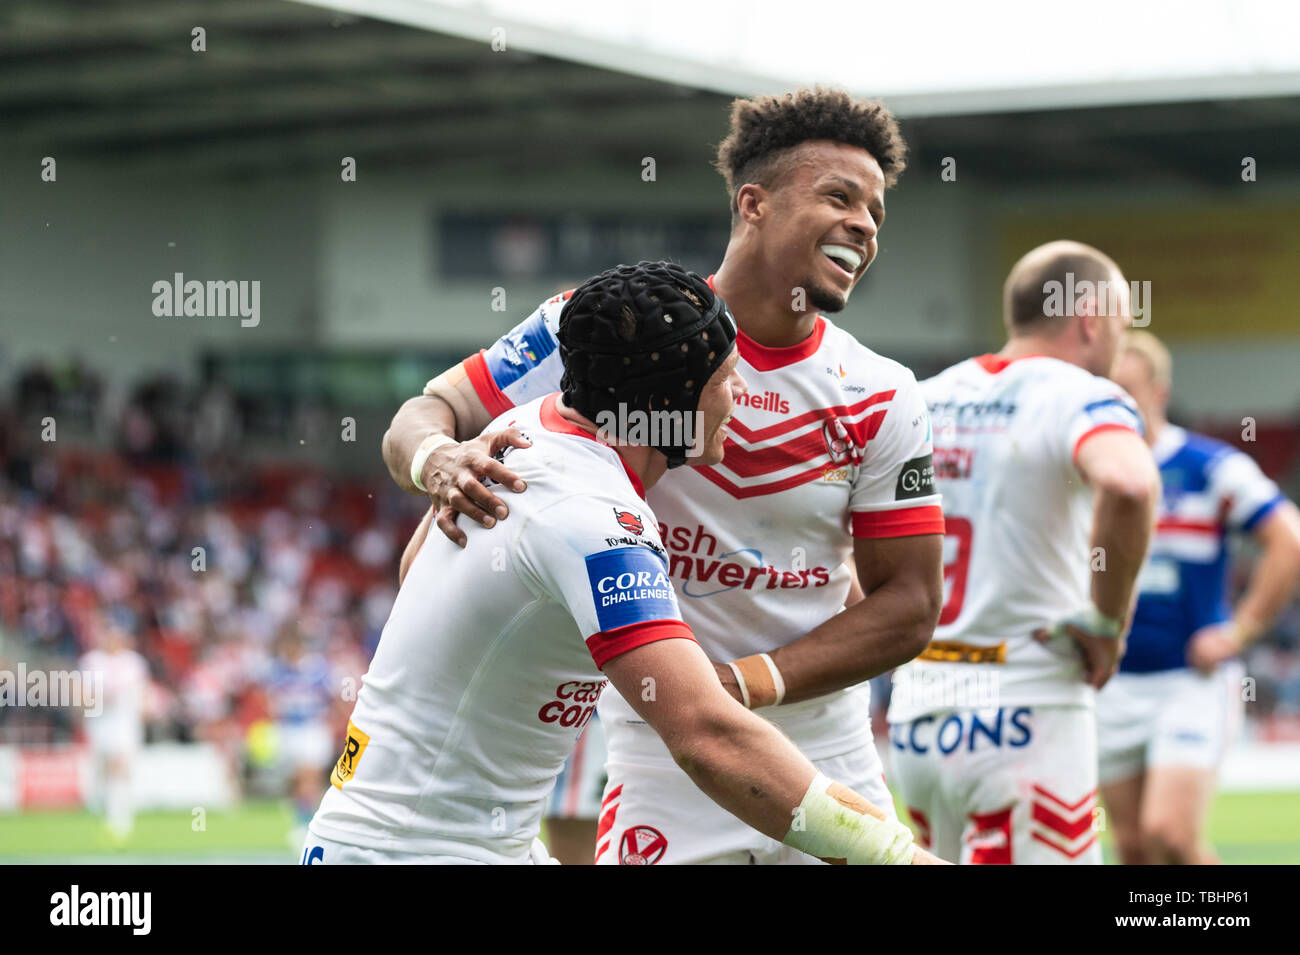
<path fill-rule="evenodd" d="M 1300 94 L 1295 0 L 300 0 L 728 94 L 902 114 Z"/>

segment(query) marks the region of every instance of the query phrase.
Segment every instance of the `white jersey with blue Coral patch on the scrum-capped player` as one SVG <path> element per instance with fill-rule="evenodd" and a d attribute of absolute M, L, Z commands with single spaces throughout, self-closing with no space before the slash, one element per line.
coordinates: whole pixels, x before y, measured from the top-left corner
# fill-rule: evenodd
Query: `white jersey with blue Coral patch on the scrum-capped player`
<path fill-rule="evenodd" d="M 429 534 L 398 591 L 348 722 L 317 835 L 525 861 L 612 657 L 690 638 L 641 483 L 567 422 L 555 395 L 493 422 L 532 447 L 528 482 L 464 550 Z"/>

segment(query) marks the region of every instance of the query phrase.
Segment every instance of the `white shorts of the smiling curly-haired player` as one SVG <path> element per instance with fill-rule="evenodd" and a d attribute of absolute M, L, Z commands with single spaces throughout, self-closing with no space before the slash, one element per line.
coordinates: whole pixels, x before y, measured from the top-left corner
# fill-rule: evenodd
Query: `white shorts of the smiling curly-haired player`
<path fill-rule="evenodd" d="M 896 819 L 875 746 L 812 764 Z M 595 835 L 597 865 L 824 865 L 741 822 L 675 764 L 611 761 L 608 773 Z"/>

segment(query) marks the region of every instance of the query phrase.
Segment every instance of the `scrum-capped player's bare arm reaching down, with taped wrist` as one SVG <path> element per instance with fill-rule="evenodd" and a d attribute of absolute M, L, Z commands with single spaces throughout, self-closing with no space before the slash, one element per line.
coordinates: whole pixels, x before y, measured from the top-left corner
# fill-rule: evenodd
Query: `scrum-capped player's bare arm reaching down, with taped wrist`
<path fill-rule="evenodd" d="M 942 864 L 732 699 L 694 639 L 646 643 L 603 669 L 692 781 L 764 835 L 840 864 Z"/>

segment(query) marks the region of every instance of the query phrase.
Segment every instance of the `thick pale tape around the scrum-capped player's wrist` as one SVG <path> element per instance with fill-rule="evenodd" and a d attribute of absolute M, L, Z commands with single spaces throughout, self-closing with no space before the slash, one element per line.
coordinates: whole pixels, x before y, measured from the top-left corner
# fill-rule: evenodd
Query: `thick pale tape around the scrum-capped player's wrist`
<path fill-rule="evenodd" d="M 910 865 L 911 830 L 818 773 L 783 842 L 838 865 Z"/>

